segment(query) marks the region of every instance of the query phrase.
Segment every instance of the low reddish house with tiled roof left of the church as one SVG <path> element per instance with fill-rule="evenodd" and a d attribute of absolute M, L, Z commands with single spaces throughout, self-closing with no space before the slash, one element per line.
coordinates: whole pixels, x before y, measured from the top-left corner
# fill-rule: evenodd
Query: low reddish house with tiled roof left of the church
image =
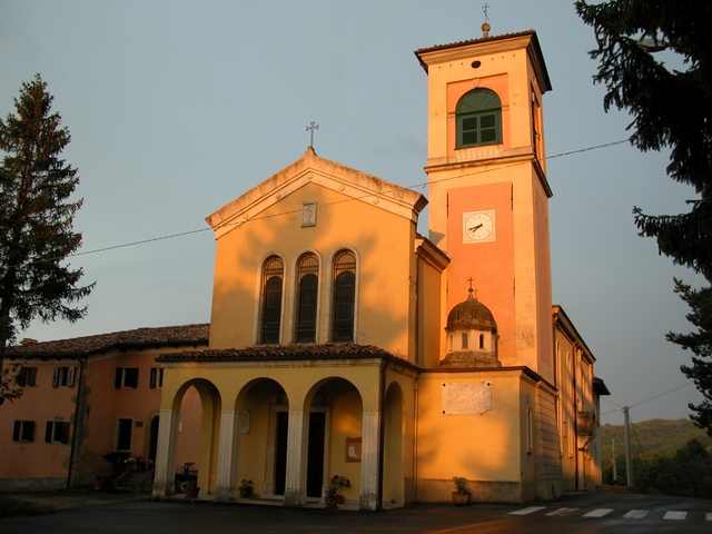
<path fill-rule="evenodd" d="M 18 382 L 24 394 L 0 408 L 0 491 L 90 485 L 110 472 L 116 457 L 149 467 L 164 382 L 156 358 L 206 347 L 208 332 L 207 324 L 138 328 L 46 343 L 26 339 L 11 347 L 6 364 L 22 365 Z M 196 400 L 185 399 L 187 429 L 195 425 L 190 406 Z M 180 462 L 195 461 L 197 444 L 181 442 L 176 454 Z"/>

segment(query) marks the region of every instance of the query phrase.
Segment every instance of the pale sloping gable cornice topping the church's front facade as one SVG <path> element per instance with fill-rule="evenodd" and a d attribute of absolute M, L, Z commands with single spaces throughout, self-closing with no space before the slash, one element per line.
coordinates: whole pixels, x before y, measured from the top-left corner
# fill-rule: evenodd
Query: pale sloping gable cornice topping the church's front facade
<path fill-rule="evenodd" d="M 423 195 L 373 175 L 320 158 L 309 147 L 304 157 L 206 217 L 216 237 L 255 219 L 281 199 L 309 184 L 339 191 L 417 222 L 427 200 Z"/>

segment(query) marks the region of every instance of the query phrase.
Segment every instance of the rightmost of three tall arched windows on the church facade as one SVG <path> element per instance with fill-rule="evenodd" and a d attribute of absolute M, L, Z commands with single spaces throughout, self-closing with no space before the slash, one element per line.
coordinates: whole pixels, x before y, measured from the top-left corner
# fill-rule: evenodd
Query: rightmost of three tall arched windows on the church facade
<path fill-rule="evenodd" d="M 354 340 L 354 308 L 356 305 L 356 257 L 349 250 L 334 258 L 334 289 L 332 300 L 332 342 Z"/>

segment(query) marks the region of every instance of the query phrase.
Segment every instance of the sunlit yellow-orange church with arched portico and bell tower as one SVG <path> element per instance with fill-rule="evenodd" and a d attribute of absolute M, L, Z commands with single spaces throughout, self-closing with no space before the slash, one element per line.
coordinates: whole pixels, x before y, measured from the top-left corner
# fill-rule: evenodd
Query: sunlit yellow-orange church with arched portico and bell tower
<path fill-rule="evenodd" d="M 595 358 L 552 305 L 536 33 L 415 52 L 429 200 L 318 156 L 207 217 L 209 346 L 162 354 L 154 495 L 174 492 L 181 399 L 199 393 L 198 485 L 301 506 L 335 475 L 380 510 L 552 500 L 601 481 Z M 428 204 L 428 236 L 416 231 Z"/>

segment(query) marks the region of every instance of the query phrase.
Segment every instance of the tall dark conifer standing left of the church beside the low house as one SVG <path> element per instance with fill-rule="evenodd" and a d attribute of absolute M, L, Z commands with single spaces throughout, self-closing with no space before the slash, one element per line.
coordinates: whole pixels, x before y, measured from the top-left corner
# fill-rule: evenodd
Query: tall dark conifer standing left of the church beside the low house
<path fill-rule="evenodd" d="M 73 304 L 93 288 L 78 286 L 82 269 L 66 265 L 81 245 L 72 231 L 81 200 L 70 198 L 79 178 L 60 157 L 70 135 L 52 100 L 37 75 L 22 83 L 17 115 L 0 119 L 0 367 L 19 328 L 33 319 L 78 320 L 86 307 Z"/>

